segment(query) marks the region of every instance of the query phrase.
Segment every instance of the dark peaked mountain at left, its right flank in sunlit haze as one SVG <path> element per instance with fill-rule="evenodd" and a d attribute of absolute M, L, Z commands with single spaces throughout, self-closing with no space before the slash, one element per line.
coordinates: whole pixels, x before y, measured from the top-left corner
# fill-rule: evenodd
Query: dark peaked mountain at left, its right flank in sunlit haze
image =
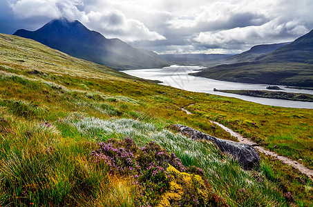
<path fill-rule="evenodd" d="M 133 48 L 120 39 L 106 39 L 79 21 L 55 19 L 36 31 L 17 30 L 19 37 L 34 39 L 73 57 L 93 61 L 117 70 L 169 66 L 155 52 Z"/>

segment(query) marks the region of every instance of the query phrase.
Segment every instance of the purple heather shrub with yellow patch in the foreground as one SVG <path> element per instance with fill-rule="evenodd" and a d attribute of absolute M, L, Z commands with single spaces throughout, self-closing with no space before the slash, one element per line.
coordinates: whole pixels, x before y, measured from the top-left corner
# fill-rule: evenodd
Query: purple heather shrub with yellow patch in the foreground
<path fill-rule="evenodd" d="M 154 141 L 138 148 L 129 137 L 120 141 L 108 139 L 91 156 L 97 163 L 106 162 L 111 175 L 131 176 L 138 189 L 138 206 L 164 206 L 169 200 L 174 206 L 227 206 L 224 199 L 212 192 L 201 169 L 182 166 L 173 152 L 169 154 Z M 180 196 L 171 197 L 176 186 Z"/>

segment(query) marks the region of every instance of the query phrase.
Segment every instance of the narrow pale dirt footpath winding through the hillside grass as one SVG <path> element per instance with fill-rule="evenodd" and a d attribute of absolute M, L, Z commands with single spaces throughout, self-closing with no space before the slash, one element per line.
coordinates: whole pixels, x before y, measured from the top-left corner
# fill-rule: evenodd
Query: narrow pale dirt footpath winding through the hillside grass
<path fill-rule="evenodd" d="M 191 105 L 189 105 L 189 106 L 191 106 Z M 185 106 L 185 107 L 187 107 L 187 106 Z M 189 112 L 185 108 L 181 108 L 181 109 L 184 112 L 186 112 L 187 115 L 191 115 L 192 114 L 191 112 Z M 234 132 L 234 130 L 231 130 L 227 126 L 224 126 L 224 125 L 222 125 L 222 124 L 220 124 L 220 123 L 218 123 L 216 121 L 210 121 L 210 122 L 212 124 L 216 124 L 217 126 L 220 126 L 220 128 L 222 128 L 223 130 L 229 132 L 231 134 L 231 136 L 236 137 L 240 143 L 251 145 L 254 148 L 256 148 L 256 150 L 258 150 L 258 152 L 262 152 L 265 155 L 270 155 L 270 156 L 274 157 L 274 159 L 280 160 L 283 164 L 287 164 L 289 166 L 292 166 L 293 168 L 298 169 L 300 172 L 302 172 L 303 174 L 307 175 L 307 177 L 309 177 L 313 181 L 313 170 L 310 170 L 309 168 L 306 168 L 305 166 L 303 166 L 303 164 L 298 163 L 298 161 L 294 161 L 294 160 L 289 159 L 287 157 L 284 157 L 284 156 L 281 156 L 281 155 L 277 155 L 275 152 L 272 152 L 270 150 L 266 150 L 265 148 L 263 148 L 261 146 L 257 146 L 257 144 L 254 141 L 243 137 L 239 133 Z"/>

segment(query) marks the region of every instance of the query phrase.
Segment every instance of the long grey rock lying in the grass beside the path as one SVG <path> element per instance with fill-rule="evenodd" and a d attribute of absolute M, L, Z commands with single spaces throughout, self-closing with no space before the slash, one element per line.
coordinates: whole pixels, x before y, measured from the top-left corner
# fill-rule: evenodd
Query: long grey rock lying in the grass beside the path
<path fill-rule="evenodd" d="M 183 135 L 188 135 L 191 139 L 206 139 L 212 141 L 222 152 L 229 153 L 230 155 L 236 157 L 240 166 L 243 166 L 245 170 L 252 169 L 260 164 L 260 156 L 258 155 L 258 152 L 256 152 L 256 149 L 252 146 L 235 141 L 219 139 L 181 124 L 171 125 L 171 127 L 175 128 Z"/>

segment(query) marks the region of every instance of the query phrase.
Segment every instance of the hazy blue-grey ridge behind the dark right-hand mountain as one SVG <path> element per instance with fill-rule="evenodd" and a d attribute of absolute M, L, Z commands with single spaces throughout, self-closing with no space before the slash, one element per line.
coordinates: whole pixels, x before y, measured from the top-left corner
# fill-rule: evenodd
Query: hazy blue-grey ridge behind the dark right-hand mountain
<path fill-rule="evenodd" d="M 250 50 L 227 58 L 227 61 L 230 62 L 254 61 L 256 57 L 266 54 L 267 52 L 272 52 L 277 48 L 285 46 L 289 43 L 290 42 L 253 46 Z"/>

